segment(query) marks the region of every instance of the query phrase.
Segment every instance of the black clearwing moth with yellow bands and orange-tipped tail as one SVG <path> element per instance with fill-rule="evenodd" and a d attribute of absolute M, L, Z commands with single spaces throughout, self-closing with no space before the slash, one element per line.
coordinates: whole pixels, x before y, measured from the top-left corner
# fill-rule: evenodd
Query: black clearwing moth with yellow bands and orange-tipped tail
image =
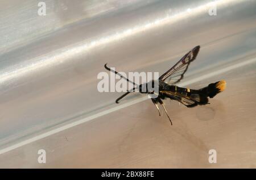
<path fill-rule="evenodd" d="M 162 76 L 160 76 L 158 79 L 159 94 L 158 94 L 158 97 L 151 98 L 151 101 L 156 106 L 159 112 L 159 116 L 161 116 L 161 113 L 159 110 L 159 104 L 163 107 L 168 119 L 171 122 L 171 125 L 172 125 L 171 118 L 168 115 L 166 107 L 163 104 L 164 99 L 170 98 L 172 100 L 180 102 L 181 104 L 184 104 L 187 107 L 195 107 L 197 105 L 209 104 L 208 98 L 213 98 L 216 94 L 220 93 L 221 91 L 224 91 L 226 88 L 226 82 L 224 80 L 210 83 L 208 86 L 203 87 L 201 89 L 197 89 L 197 90 L 176 86 L 176 83 L 180 82 L 181 79 L 183 79 L 189 64 L 196 59 L 196 56 L 199 53 L 199 49 L 200 49 L 199 45 L 193 48 L 191 51 L 185 54 L 174 66 L 172 66 L 171 69 L 167 70 L 167 72 L 164 73 Z M 110 69 L 107 66 L 107 64 L 105 64 L 105 68 L 110 72 L 118 74 L 121 78 L 124 78 L 128 82 L 131 82 L 135 85 L 134 82 L 130 81 L 126 77 L 123 77 L 121 74 L 119 74 L 115 70 Z M 156 84 L 154 81 L 150 83 L 153 84 L 152 86 Z M 150 89 L 146 89 L 146 91 L 142 91 L 143 85 L 146 85 L 146 83 L 141 84 L 137 87 L 134 87 L 132 90 L 127 91 L 127 93 L 117 98 L 115 102 L 118 103 L 123 97 L 125 97 L 131 92 L 134 92 L 135 89 L 138 89 L 139 93 L 143 93 L 143 94 L 154 93 L 153 91 L 150 91 Z"/>

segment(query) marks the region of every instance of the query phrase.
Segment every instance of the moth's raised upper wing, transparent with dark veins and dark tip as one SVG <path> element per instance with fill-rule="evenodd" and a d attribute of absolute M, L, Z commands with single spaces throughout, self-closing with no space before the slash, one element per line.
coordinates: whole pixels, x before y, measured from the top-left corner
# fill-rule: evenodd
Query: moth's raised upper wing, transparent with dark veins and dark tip
<path fill-rule="evenodd" d="M 169 69 L 166 73 L 160 76 L 159 80 L 165 81 L 167 83 L 179 82 L 183 78 L 184 73 L 187 71 L 188 65 L 190 64 L 190 62 L 195 60 L 199 52 L 199 49 L 200 49 L 200 46 L 198 45 L 197 47 L 189 51 L 171 69 Z"/>

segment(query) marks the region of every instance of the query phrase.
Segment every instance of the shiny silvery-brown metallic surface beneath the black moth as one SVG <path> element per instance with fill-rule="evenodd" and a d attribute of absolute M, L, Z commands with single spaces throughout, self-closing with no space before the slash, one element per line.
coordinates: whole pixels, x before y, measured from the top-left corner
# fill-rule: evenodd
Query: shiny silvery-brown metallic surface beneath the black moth
<path fill-rule="evenodd" d="M 255 1 L 45 2 L 39 16 L 38 2 L 1 1 L 1 168 L 255 168 Z M 106 62 L 163 73 L 195 45 L 180 86 L 228 89 L 208 106 L 172 102 L 172 127 L 141 95 L 97 91 Z"/>

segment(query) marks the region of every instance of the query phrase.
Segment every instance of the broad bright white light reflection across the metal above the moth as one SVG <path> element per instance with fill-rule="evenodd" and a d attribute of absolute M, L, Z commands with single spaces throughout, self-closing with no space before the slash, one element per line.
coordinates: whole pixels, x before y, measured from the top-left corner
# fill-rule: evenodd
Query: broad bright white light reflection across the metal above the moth
<path fill-rule="evenodd" d="M 81 53 L 85 53 L 86 51 L 92 51 L 92 48 L 97 48 L 100 45 L 105 45 L 108 43 L 114 43 L 120 39 L 127 38 L 129 36 L 137 35 L 143 31 L 149 31 L 154 28 L 159 28 L 161 26 L 170 26 L 175 22 L 179 22 L 188 16 L 199 15 L 205 13 L 208 15 L 208 10 L 210 7 L 217 6 L 225 6 L 228 5 L 230 2 L 239 2 L 234 0 L 218 0 L 214 2 L 206 3 L 205 5 L 201 5 L 195 7 L 193 9 L 187 9 L 183 12 L 178 14 L 171 14 L 172 11 L 169 9 L 166 14 L 162 17 L 158 17 L 151 22 L 146 22 L 144 24 L 139 24 L 134 26 L 133 28 L 128 28 L 127 30 L 116 32 L 115 34 L 101 37 L 100 39 L 93 40 L 93 41 L 81 41 L 77 44 L 72 44 L 69 47 L 65 47 L 60 50 L 56 50 L 54 52 L 48 53 L 44 57 L 36 57 L 30 61 L 33 61 L 31 64 L 22 64 L 22 66 L 16 65 L 12 66 L 9 69 L 5 69 L 5 73 L 0 75 L 0 83 L 4 83 L 14 78 L 23 77 L 27 74 L 33 73 L 43 68 L 47 68 L 49 66 L 55 66 L 61 64 L 65 61 L 71 60 L 71 57 L 79 55 Z M 54 53 L 55 55 L 52 55 Z"/>

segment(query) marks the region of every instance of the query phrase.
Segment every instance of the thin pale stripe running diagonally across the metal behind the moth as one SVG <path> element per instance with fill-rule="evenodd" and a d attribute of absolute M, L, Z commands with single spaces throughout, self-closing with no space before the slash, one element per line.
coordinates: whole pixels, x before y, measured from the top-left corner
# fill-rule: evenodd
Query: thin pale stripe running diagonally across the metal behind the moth
<path fill-rule="evenodd" d="M 179 83 L 179 85 L 180 86 L 187 86 L 187 85 L 189 85 L 191 83 L 202 81 L 203 79 L 207 79 L 209 77 L 213 77 L 213 76 L 216 76 L 218 74 L 225 73 L 225 72 L 228 72 L 228 71 L 236 69 L 236 68 L 240 68 L 242 66 L 251 64 L 253 62 L 256 62 L 256 58 L 253 58 L 253 59 L 250 59 L 250 60 L 247 60 L 247 61 L 240 62 L 238 64 L 234 64 L 234 65 L 228 66 L 226 68 L 217 70 L 217 71 L 215 71 L 213 73 L 209 73 L 209 74 L 206 74 L 204 76 L 200 76 L 198 78 L 191 79 L 190 81 L 187 81 L 187 82 L 184 82 L 184 83 Z M 76 122 L 72 122 L 72 123 L 63 125 L 62 127 L 58 127 L 58 128 L 53 129 L 51 131 L 42 133 L 41 135 L 37 135 L 35 137 L 31 137 L 30 139 L 24 140 L 24 141 L 22 141 L 20 143 L 16 143 L 16 144 L 11 145 L 11 146 L 9 146 L 7 148 L 1 149 L 0 150 L 0 154 L 3 154 L 3 153 L 6 153 L 6 152 L 9 152 L 10 150 L 14 150 L 16 148 L 19 148 L 20 146 L 23 146 L 23 145 L 26 145 L 26 144 L 30 144 L 30 143 L 32 143 L 34 141 L 43 139 L 44 137 L 48 137 L 48 136 L 54 135 L 55 133 L 64 131 L 65 129 L 69 129 L 69 128 L 75 127 L 76 125 L 79 125 L 79 124 L 88 122 L 89 120 L 92 120 L 92 119 L 98 118 L 100 116 L 109 114 L 110 112 L 114 112 L 114 111 L 120 110 L 121 108 L 124 108 L 124 107 L 127 107 L 127 106 L 131 106 L 132 104 L 136 104 L 136 103 L 142 102 L 142 101 L 144 101 L 146 99 L 148 99 L 147 96 L 145 96 L 143 98 L 136 99 L 135 101 L 131 101 L 131 102 L 127 102 L 125 104 L 121 104 L 121 105 L 119 105 L 117 107 L 110 108 L 109 110 L 99 112 L 98 114 L 89 116 L 88 118 L 84 118 L 84 119 L 81 119 L 81 120 L 77 120 Z"/>

